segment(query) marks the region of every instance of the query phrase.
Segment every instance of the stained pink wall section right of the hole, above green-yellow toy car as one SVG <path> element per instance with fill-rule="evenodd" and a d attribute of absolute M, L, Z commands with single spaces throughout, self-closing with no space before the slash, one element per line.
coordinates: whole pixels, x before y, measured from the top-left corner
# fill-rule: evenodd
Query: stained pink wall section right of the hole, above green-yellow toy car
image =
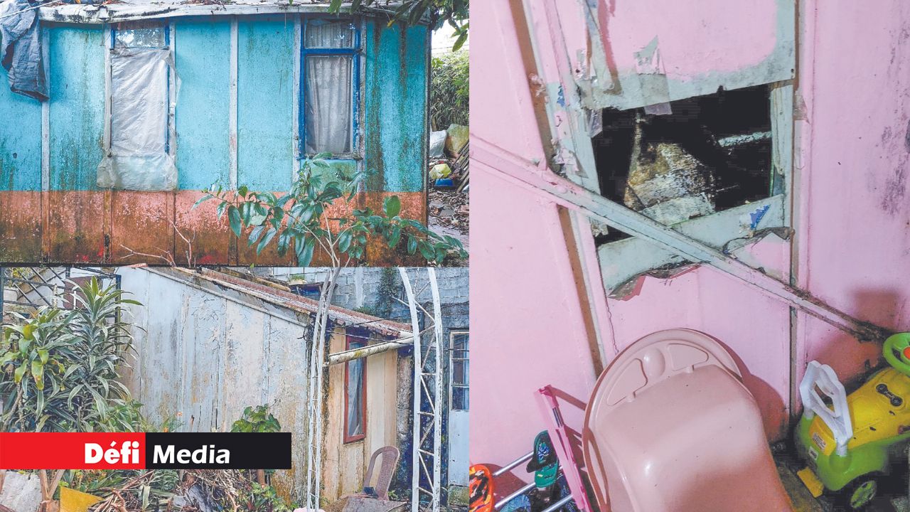
<path fill-rule="evenodd" d="M 910 4 L 809 4 L 803 17 L 798 282 L 860 319 L 910 330 Z M 801 324 L 800 377 L 813 359 L 855 375 L 878 358 L 878 346 Z"/>

